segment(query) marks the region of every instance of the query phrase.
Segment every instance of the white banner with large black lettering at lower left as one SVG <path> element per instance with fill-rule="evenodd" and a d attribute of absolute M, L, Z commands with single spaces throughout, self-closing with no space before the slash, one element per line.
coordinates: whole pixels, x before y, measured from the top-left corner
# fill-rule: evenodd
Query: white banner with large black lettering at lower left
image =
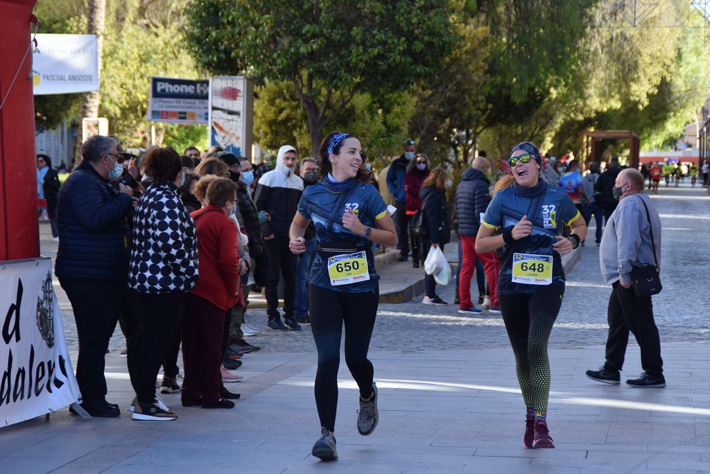
<path fill-rule="evenodd" d="M 80 401 L 52 260 L 0 262 L 0 427 Z"/>

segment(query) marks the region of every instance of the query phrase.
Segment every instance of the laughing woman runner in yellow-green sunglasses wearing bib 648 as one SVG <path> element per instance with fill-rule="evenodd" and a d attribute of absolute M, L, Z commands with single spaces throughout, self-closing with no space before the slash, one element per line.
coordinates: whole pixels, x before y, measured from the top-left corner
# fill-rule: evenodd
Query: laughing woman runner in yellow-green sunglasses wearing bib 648
<path fill-rule="evenodd" d="M 488 204 L 476 236 L 476 252 L 504 247 L 498 300 L 527 408 L 523 443 L 526 448 L 554 448 L 547 429 L 547 341 L 564 294 L 559 255 L 579 247 L 586 225 L 562 188 L 540 180 L 542 157 L 535 145 L 515 145 L 508 164 L 515 182 Z M 572 234 L 565 238 L 567 226 Z M 503 233 L 496 235 L 498 229 Z"/>

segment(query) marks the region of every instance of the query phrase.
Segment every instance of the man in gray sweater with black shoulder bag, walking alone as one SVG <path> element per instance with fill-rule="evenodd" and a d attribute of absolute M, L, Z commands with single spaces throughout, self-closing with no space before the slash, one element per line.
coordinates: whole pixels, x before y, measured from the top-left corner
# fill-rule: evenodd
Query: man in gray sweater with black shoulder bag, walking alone
<path fill-rule="evenodd" d="M 665 387 L 660 338 L 653 319 L 651 297 L 636 297 L 630 277 L 631 269 L 635 266 L 660 263 L 661 219 L 650 198 L 643 194 L 644 180 L 638 170 L 622 170 L 615 184 L 613 194 L 620 202 L 604 228 L 599 248 L 601 276 L 611 284 L 606 363 L 599 370 L 587 370 L 586 376 L 598 382 L 619 385 L 619 372 L 631 331 L 641 348 L 644 372 L 638 378 L 626 380 L 627 385 Z"/>

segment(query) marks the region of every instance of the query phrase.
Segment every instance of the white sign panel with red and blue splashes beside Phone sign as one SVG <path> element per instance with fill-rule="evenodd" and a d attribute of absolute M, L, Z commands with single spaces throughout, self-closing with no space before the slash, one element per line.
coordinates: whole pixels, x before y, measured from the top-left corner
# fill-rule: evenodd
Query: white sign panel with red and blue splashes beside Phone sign
<path fill-rule="evenodd" d="M 251 88 L 239 76 L 209 79 L 209 144 L 236 156 L 251 155 Z M 248 95 L 249 94 L 249 95 Z"/>

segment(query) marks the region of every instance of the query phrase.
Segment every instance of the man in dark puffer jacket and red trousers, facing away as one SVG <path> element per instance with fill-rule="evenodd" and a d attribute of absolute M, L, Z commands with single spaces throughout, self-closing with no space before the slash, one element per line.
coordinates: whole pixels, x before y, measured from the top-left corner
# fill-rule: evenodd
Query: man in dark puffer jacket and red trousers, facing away
<path fill-rule="evenodd" d="M 459 313 L 479 313 L 481 309 L 471 300 L 471 277 L 476 268 L 476 258 L 481 259 L 488 277 L 491 293 L 491 312 L 498 312 L 498 270 L 500 263 L 495 253 L 476 253 L 476 234 L 481 226 L 481 215 L 486 212 L 491 195 L 491 184 L 486 174 L 491 163 L 484 156 L 477 157 L 471 167 L 461 175 L 461 182 L 456 189 L 456 216 L 459 220 L 459 240 L 461 241 L 461 272 L 459 273 Z"/>

